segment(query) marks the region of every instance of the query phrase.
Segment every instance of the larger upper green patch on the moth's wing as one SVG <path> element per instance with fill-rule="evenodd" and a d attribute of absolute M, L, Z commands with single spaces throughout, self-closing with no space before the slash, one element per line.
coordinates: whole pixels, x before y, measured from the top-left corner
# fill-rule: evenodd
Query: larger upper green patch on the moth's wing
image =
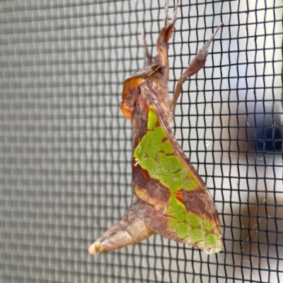
<path fill-rule="evenodd" d="M 147 132 L 134 149 L 134 158 L 139 161 L 141 168 L 149 172 L 151 178 L 159 180 L 171 192 L 202 188 L 195 175 L 188 171 L 184 161 L 175 155 L 153 106 L 149 108 Z"/>

